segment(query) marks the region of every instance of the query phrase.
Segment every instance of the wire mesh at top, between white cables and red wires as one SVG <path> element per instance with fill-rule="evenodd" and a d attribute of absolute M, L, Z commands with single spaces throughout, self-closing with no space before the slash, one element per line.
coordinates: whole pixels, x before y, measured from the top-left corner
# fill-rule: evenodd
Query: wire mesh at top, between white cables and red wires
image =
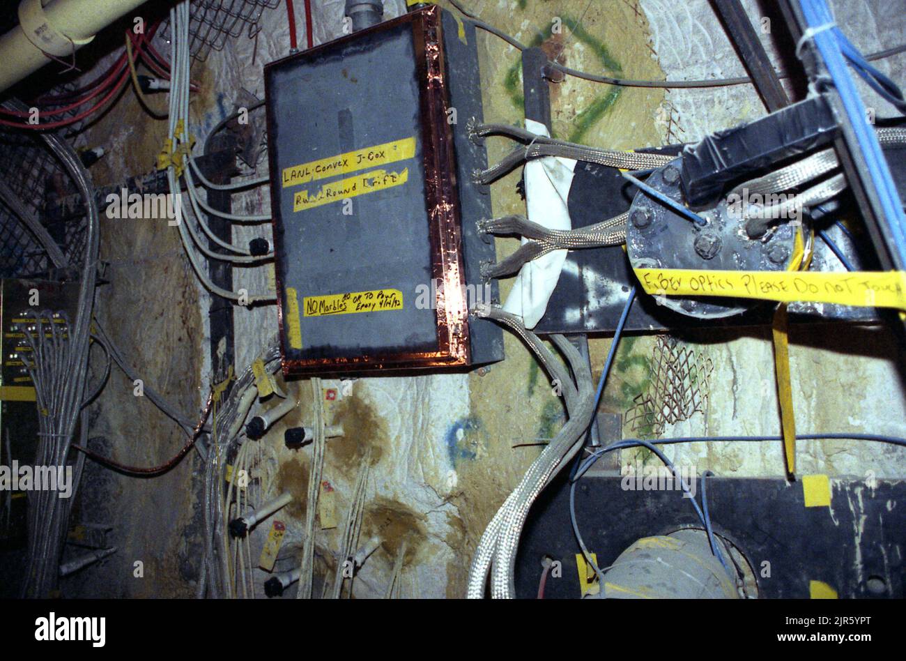
<path fill-rule="evenodd" d="M 223 50 L 226 37 L 245 33 L 249 38 L 261 31 L 258 21 L 265 9 L 275 9 L 281 0 L 195 0 L 189 7 L 190 53 L 204 62 L 211 50 Z M 169 39 L 170 24 L 163 36 Z"/>

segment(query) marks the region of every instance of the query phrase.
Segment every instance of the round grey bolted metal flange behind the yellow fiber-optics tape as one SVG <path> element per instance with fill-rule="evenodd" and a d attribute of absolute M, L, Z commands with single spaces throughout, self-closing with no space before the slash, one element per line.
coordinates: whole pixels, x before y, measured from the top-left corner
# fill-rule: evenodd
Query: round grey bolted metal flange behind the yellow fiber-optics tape
<path fill-rule="evenodd" d="M 682 204 L 682 158 L 654 170 L 651 188 Z M 722 199 L 698 212 L 699 226 L 644 191 L 632 200 L 626 223 L 626 252 L 633 268 L 691 268 L 726 271 L 783 271 L 793 256 L 795 228 L 780 220 L 761 238 L 748 238 L 746 219 Z M 681 315 L 719 319 L 740 315 L 753 301 L 717 296 L 659 296 L 659 304 Z"/>

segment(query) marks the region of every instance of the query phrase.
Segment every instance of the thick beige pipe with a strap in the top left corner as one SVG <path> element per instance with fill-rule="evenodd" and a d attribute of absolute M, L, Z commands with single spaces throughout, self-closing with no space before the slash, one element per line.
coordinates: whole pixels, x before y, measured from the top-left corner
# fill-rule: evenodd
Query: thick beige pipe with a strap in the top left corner
<path fill-rule="evenodd" d="M 66 58 L 145 0 L 22 0 L 19 24 L 0 36 L 0 92 Z M 45 5 L 42 7 L 42 3 Z"/>

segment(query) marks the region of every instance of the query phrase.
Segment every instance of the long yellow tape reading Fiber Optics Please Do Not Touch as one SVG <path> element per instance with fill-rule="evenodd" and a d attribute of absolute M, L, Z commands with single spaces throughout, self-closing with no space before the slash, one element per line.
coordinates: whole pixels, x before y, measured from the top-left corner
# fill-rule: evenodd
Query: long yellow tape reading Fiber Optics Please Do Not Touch
<path fill-rule="evenodd" d="M 902 271 L 708 271 L 636 268 L 641 287 L 653 296 L 730 296 L 794 303 L 906 309 Z"/>

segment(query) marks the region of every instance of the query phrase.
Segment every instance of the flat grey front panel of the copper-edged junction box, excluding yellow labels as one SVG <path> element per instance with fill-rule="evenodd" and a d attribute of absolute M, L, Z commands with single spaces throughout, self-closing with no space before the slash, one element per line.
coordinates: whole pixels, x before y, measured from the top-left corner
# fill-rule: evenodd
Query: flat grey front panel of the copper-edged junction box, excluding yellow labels
<path fill-rule="evenodd" d="M 270 144 L 275 178 L 284 168 L 347 151 L 415 137 L 413 158 L 376 170 L 408 169 L 397 187 L 352 197 L 352 214 L 337 199 L 294 212 L 294 193 L 314 194 L 350 174 L 284 188 L 279 193 L 278 276 L 305 296 L 399 289 L 400 310 L 336 316 L 302 316 L 302 350 L 284 346 L 284 359 L 354 357 L 438 346 L 436 315 L 415 305 L 429 285 L 431 247 L 425 205 L 425 171 L 419 121 L 419 84 L 412 30 L 390 30 L 342 41 L 311 57 L 268 70 Z M 371 170 L 357 170 L 359 172 Z M 348 209 L 348 203 L 345 205 Z M 284 300 L 284 314 L 286 302 Z M 405 329 L 400 332 L 400 329 Z"/>

